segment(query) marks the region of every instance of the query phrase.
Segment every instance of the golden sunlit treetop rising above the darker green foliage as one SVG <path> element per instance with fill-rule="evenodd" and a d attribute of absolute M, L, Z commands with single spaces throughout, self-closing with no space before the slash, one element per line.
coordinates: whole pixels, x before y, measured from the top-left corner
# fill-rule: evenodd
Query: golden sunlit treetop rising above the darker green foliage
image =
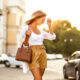
<path fill-rule="evenodd" d="M 52 29 L 54 32 L 60 32 L 72 29 L 72 26 L 71 23 L 67 20 L 57 20 L 52 23 Z"/>

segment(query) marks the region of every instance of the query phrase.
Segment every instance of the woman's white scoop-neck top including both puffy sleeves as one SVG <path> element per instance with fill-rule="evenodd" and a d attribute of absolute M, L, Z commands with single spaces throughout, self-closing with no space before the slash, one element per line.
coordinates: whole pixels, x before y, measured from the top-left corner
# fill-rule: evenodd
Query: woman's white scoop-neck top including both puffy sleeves
<path fill-rule="evenodd" d="M 28 30 L 28 27 L 29 26 L 26 24 L 21 30 L 22 42 L 24 42 L 24 40 L 25 40 L 25 37 L 26 37 L 25 32 L 26 32 L 26 30 Z M 29 38 L 29 46 L 31 46 L 31 45 L 42 45 L 44 39 L 49 39 L 49 40 L 56 39 L 55 33 L 53 33 L 53 35 L 51 35 L 50 33 L 43 31 L 40 27 L 38 27 L 38 28 L 39 28 L 41 33 L 36 34 L 32 31 L 31 36 Z"/>

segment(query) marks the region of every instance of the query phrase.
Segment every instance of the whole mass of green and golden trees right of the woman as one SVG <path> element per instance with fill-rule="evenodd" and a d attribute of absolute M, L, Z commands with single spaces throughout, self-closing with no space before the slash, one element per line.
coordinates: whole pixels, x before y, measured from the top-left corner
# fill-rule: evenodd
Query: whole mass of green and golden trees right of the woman
<path fill-rule="evenodd" d="M 56 40 L 44 40 L 47 53 L 70 55 L 74 51 L 80 50 L 80 31 L 76 27 L 72 28 L 68 21 L 58 21 L 55 23 L 55 27 Z"/>

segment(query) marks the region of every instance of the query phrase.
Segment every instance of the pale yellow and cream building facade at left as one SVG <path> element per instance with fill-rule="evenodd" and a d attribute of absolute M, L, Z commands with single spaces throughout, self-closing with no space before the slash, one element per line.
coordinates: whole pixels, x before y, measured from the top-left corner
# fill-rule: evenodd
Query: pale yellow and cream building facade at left
<path fill-rule="evenodd" d="M 15 55 L 24 25 L 24 0 L 0 0 L 0 54 Z"/>

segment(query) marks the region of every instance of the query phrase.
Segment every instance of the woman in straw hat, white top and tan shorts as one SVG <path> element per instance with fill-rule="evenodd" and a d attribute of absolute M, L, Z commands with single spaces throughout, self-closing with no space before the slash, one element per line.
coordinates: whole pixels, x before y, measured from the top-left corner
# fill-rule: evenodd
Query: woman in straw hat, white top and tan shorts
<path fill-rule="evenodd" d="M 21 31 L 22 42 L 25 42 L 25 37 L 29 36 L 28 43 L 32 49 L 32 63 L 28 63 L 28 66 L 33 74 L 34 80 L 42 80 L 45 68 L 47 67 L 47 56 L 43 40 L 54 40 L 56 38 L 55 33 L 51 29 L 51 19 L 47 19 L 49 33 L 38 27 L 44 23 L 45 18 L 46 14 L 44 12 L 41 10 L 35 11 Z M 25 44 L 24 47 L 26 47 Z"/>

